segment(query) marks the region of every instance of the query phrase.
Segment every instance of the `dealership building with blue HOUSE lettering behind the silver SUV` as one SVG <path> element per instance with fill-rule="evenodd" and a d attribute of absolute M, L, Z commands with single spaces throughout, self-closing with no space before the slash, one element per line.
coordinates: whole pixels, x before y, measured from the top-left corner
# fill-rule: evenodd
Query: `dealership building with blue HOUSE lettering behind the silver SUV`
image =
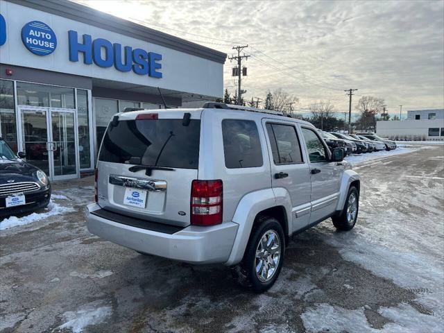
<path fill-rule="evenodd" d="M 226 54 L 70 1 L 0 0 L 0 136 L 52 180 L 94 169 L 108 121 L 223 94 Z"/>

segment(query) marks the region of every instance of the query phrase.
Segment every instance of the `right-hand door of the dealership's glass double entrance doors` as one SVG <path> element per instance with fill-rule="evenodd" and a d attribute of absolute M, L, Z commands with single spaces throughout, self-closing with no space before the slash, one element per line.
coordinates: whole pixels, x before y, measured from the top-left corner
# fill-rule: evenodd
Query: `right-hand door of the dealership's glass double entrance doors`
<path fill-rule="evenodd" d="M 50 155 L 53 180 L 77 177 L 76 126 L 74 112 L 50 109 Z"/>

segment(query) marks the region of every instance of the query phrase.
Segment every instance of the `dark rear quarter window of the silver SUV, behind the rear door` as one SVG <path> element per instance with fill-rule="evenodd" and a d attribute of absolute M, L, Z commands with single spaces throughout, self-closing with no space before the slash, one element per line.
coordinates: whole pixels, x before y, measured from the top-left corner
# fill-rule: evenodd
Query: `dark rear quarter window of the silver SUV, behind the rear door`
<path fill-rule="evenodd" d="M 255 121 L 222 121 L 225 167 L 228 169 L 262 167 L 262 149 Z"/>

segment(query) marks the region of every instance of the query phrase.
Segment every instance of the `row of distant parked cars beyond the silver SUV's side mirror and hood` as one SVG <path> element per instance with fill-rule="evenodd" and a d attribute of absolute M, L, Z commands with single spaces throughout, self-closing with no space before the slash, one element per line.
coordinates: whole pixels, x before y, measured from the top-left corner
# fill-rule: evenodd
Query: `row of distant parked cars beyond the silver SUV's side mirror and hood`
<path fill-rule="evenodd" d="M 391 151 L 396 148 L 396 143 L 378 137 L 375 133 L 357 133 L 357 134 L 344 134 L 337 132 L 325 132 L 318 130 L 323 136 L 325 142 L 330 147 L 342 148 L 344 155 L 351 153 L 372 153 L 373 151 Z"/>

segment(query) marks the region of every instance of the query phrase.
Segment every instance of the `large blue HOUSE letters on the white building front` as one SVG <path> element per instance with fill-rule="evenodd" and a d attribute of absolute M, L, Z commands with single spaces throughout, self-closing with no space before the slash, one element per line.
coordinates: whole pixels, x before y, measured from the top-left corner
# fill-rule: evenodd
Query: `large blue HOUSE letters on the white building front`
<path fill-rule="evenodd" d="M 147 52 L 143 49 L 133 49 L 119 43 L 112 44 L 103 38 L 92 40 L 91 35 L 83 35 L 79 42 L 77 31 L 68 31 L 69 60 L 78 62 L 78 56 L 83 56 L 83 63 L 92 62 L 99 67 L 112 67 L 118 71 L 131 71 L 152 78 L 162 78 L 162 55 Z"/>

